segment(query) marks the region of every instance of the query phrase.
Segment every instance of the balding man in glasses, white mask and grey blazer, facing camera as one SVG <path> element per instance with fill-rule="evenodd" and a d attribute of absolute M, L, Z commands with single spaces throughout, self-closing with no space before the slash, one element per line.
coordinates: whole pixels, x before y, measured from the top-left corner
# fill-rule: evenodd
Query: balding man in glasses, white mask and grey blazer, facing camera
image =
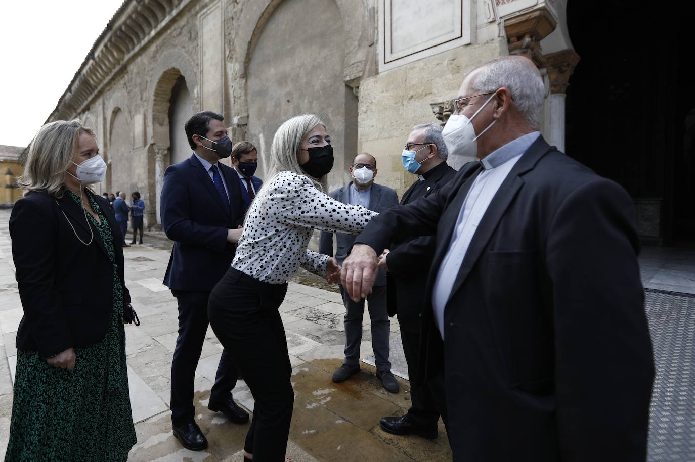
<path fill-rule="evenodd" d="M 398 195 L 388 186 L 374 182 L 377 176 L 377 160 L 371 154 L 361 153 L 355 156 L 350 165 L 352 181 L 331 192 L 331 197 L 345 204 L 360 205 L 371 211 L 382 213 L 398 205 Z M 338 263 L 343 263 L 352 242 L 357 236 L 337 234 Z M 323 231 L 319 242 L 319 251 L 328 256 L 334 256 L 333 235 Z M 341 368 L 333 374 L 334 382 L 342 382 L 359 372 L 359 353 L 362 340 L 362 318 L 364 315 L 364 299 L 353 302 L 341 286 L 341 294 L 345 303 L 345 361 Z M 398 393 L 398 381 L 391 374 L 389 362 L 389 336 L 391 321 L 386 313 L 386 274 L 380 271 L 377 275 L 372 293 L 368 295 L 367 306 L 372 322 L 372 348 L 376 358 L 377 377 L 384 388 L 391 393 Z"/>

